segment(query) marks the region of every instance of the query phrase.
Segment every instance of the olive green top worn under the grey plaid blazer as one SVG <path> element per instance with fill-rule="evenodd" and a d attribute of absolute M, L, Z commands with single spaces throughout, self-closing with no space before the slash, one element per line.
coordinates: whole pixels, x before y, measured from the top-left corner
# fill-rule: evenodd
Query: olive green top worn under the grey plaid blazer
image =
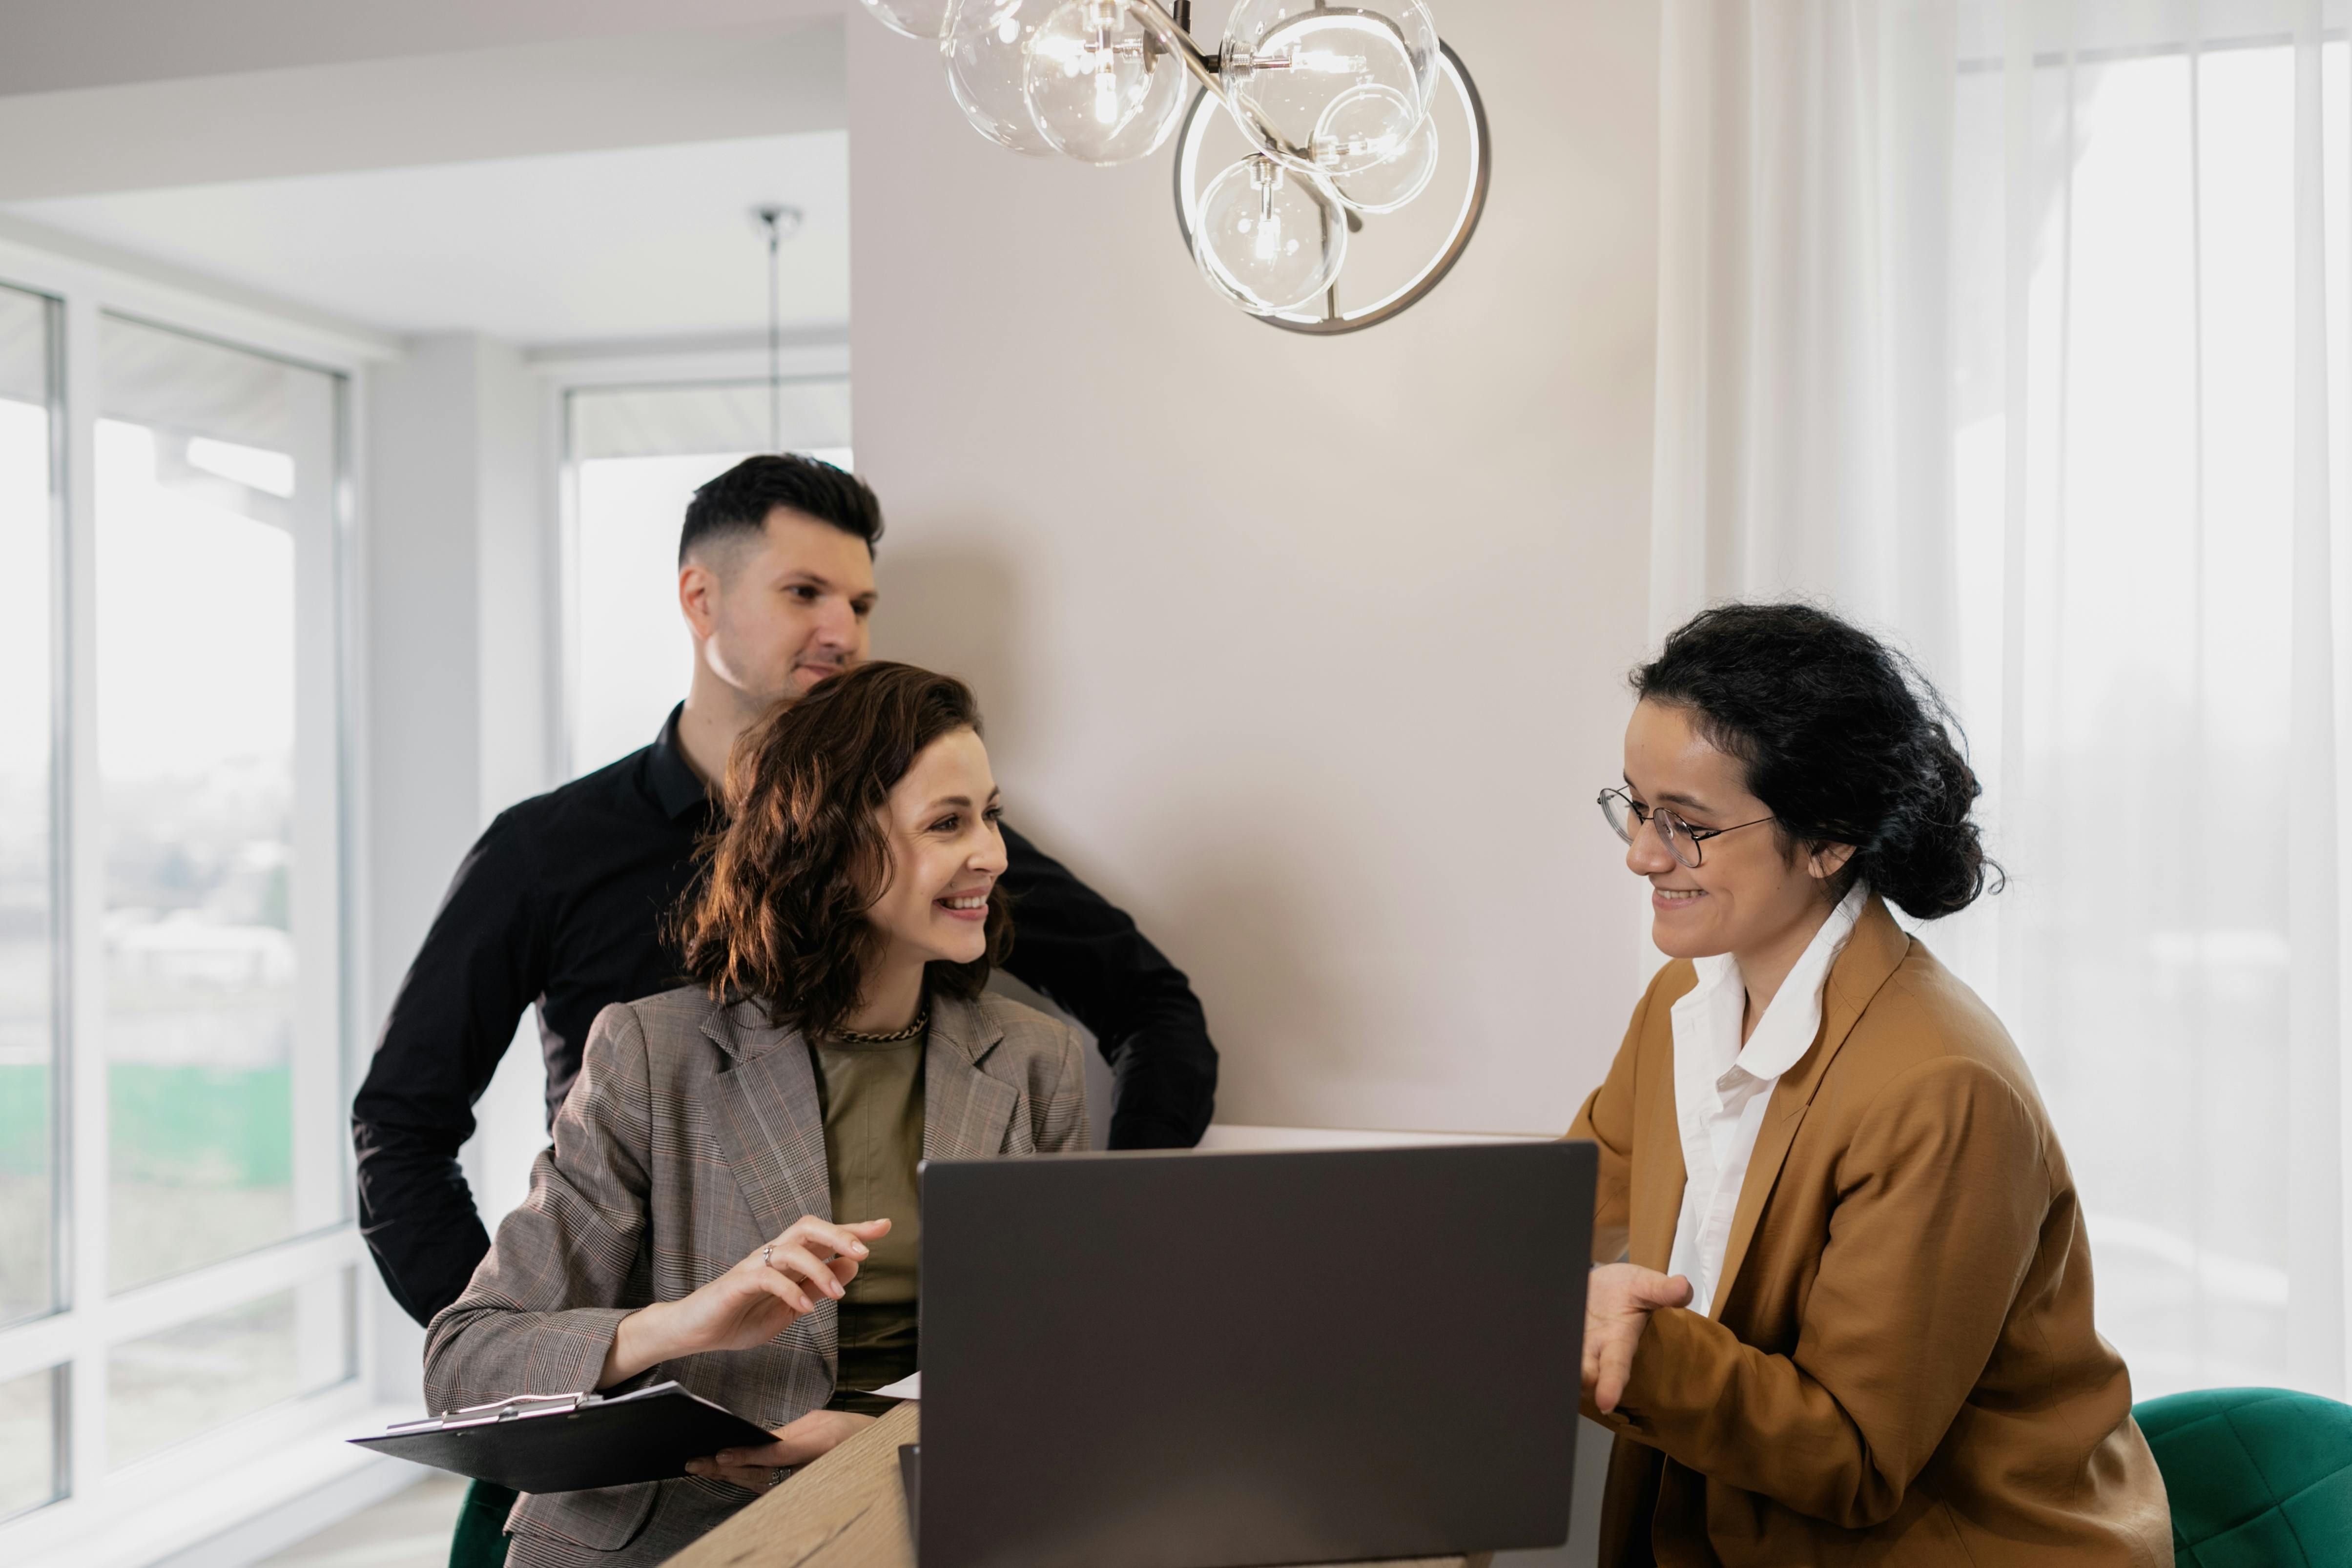
<path fill-rule="evenodd" d="M 842 1359 L 835 1408 L 882 1413 L 891 1401 L 858 1403 L 851 1392 L 880 1389 L 917 1368 L 915 1288 L 922 1258 L 922 1056 L 924 1039 L 851 1044 L 821 1039 L 809 1058 L 826 1112 L 826 1182 L 833 1218 L 889 1220 L 840 1305 Z"/>

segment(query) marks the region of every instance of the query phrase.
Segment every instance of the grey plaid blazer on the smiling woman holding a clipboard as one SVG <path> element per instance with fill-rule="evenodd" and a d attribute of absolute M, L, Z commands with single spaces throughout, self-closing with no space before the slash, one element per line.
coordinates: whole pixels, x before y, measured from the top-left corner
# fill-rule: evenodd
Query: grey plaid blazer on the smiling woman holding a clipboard
<path fill-rule="evenodd" d="M 927 1159 L 1082 1147 L 1084 1121 L 1087 1077 L 1068 1025 L 995 994 L 931 1006 Z M 426 1403 L 593 1389 L 623 1316 L 724 1274 L 800 1215 L 833 1218 L 800 1030 L 691 987 L 604 1009 L 555 1117 L 555 1147 L 532 1168 L 532 1197 L 426 1328 Z M 644 1380 L 675 1378 L 781 1427 L 833 1399 L 837 1345 L 835 1307 L 818 1300 L 760 1349 L 684 1356 Z M 701 1476 L 524 1495 L 508 1516 L 510 1561 L 659 1563 L 750 1497 Z"/>

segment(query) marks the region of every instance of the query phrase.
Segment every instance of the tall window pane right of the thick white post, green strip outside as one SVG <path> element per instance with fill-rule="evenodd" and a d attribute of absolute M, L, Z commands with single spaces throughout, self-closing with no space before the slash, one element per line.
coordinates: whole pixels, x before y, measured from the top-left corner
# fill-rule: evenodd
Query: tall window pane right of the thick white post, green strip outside
<path fill-rule="evenodd" d="M 301 1171 L 296 1112 L 341 1100 L 334 947 L 296 940 L 296 914 L 325 912 L 296 910 L 299 891 L 334 886 L 296 832 L 306 809 L 334 811 L 332 773 L 303 778 L 296 759 L 296 538 L 301 503 L 334 484 L 336 388 L 113 317 L 99 355 L 108 1284 L 122 1291 L 343 1215 L 341 1164 L 313 1154 Z M 327 651 L 308 675 L 332 693 Z M 332 708 L 320 717 L 332 726 Z M 320 783 L 327 799 L 303 799 Z"/>

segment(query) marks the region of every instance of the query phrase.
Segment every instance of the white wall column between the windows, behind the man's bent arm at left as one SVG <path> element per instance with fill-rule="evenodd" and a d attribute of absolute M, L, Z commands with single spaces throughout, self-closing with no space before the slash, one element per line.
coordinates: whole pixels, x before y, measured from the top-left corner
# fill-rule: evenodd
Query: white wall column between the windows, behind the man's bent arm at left
<path fill-rule="evenodd" d="M 480 336 L 419 339 L 367 376 L 365 616 L 374 1030 L 466 849 L 501 809 L 555 783 L 555 614 L 541 383 Z M 496 1225 L 546 1143 L 536 1039 L 475 1105 L 466 1175 Z M 369 1293 L 379 1394 L 416 1396 L 421 1333 Z M 412 1354 L 414 1352 L 414 1354 Z"/>

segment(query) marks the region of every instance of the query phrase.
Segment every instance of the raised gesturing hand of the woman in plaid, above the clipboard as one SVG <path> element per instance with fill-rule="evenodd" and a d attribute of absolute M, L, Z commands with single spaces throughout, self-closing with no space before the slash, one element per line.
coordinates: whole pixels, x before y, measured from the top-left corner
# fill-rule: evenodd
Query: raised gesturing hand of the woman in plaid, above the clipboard
<path fill-rule="evenodd" d="M 757 1349 L 816 1312 L 816 1298 L 842 1298 L 858 1276 L 866 1244 L 889 1234 L 889 1220 L 833 1225 L 802 1215 L 781 1237 L 743 1258 L 694 1295 L 654 1302 L 621 1319 L 604 1352 L 597 1387 L 703 1349 Z"/>

